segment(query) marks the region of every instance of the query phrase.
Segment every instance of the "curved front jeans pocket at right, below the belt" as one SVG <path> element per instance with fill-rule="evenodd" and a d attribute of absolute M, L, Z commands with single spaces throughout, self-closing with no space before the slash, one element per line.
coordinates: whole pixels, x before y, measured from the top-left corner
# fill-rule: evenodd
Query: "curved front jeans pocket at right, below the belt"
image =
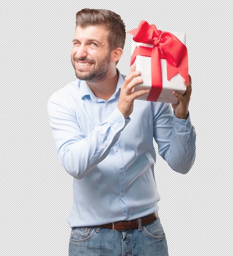
<path fill-rule="evenodd" d="M 155 221 L 145 225 L 143 230 L 147 234 L 147 236 L 154 238 L 154 239 L 164 239 L 165 234 L 163 231 L 163 227 L 160 223 L 160 219 L 157 218 Z"/>

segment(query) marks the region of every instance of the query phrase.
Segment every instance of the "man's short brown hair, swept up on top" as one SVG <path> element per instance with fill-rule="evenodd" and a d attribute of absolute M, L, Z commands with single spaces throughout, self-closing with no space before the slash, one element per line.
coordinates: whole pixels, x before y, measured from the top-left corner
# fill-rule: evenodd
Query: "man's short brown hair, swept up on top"
<path fill-rule="evenodd" d="M 76 13 L 76 27 L 103 26 L 108 30 L 110 51 L 125 45 L 125 24 L 113 11 L 105 9 L 82 9 Z"/>

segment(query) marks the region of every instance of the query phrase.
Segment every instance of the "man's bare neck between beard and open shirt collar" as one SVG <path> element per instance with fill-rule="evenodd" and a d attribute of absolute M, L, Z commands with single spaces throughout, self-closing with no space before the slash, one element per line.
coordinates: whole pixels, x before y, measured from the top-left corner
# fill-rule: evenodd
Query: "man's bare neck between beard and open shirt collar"
<path fill-rule="evenodd" d="M 114 94 L 116 90 L 118 79 L 119 76 L 115 68 L 115 70 L 109 72 L 109 74 L 106 76 L 106 79 L 103 81 L 95 83 L 87 82 L 87 84 L 97 98 L 108 101 L 108 99 L 112 96 L 112 94 Z"/>

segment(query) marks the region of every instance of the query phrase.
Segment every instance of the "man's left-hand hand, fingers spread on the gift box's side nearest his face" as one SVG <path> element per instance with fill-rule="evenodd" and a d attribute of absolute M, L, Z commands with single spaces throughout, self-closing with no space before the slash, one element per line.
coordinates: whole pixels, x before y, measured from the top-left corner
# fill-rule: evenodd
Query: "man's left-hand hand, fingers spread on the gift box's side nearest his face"
<path fill-rule="evenodd" d="M 140 75 L 140 71 L 135 71 L 136 64 L 130 68 L 129 74 L 125 77 L 124 83 L 121 85 L 121 92 L 117 108 L 120 110 L 125 119 L 133 112 L 134 100 L 143 94 L 149 92 L 148 89 L 143 89 L 133 92 L 134 87 L 142 83 L 142 79 L 134 79 Z M 133 80 L 134 79 L 134 80 Z"/>

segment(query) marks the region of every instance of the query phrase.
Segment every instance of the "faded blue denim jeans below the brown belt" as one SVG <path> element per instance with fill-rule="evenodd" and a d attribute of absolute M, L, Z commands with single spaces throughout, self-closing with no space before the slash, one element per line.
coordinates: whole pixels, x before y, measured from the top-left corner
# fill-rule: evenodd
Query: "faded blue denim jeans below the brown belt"
<path fill-rule="evenodd" d="M 141 230 L 114 231 L 101 227 L 74 227 L 69 256 L 168 256 L 159 218 Z"/>

